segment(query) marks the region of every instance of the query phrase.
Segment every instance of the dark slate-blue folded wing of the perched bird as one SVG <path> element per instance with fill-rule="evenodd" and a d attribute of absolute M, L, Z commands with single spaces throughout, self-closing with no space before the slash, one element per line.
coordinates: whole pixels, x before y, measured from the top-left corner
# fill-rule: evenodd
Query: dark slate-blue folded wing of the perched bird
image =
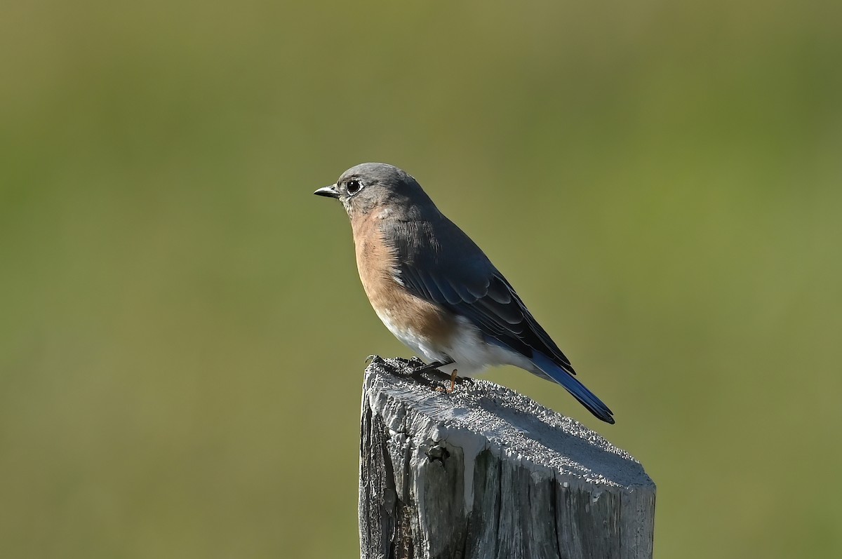
<path fill-rule="evenodd" d="M 413 295 L 468 318 L 496 343 L 529 359 L 540 352 L 575 375 L 511 284 L 459 227 L 444 216 L 434 223 L 384 221 L 381 227 L 397 256 L 397 279 Z M 437 237 L 447 238 L 446 244 Z"/>

